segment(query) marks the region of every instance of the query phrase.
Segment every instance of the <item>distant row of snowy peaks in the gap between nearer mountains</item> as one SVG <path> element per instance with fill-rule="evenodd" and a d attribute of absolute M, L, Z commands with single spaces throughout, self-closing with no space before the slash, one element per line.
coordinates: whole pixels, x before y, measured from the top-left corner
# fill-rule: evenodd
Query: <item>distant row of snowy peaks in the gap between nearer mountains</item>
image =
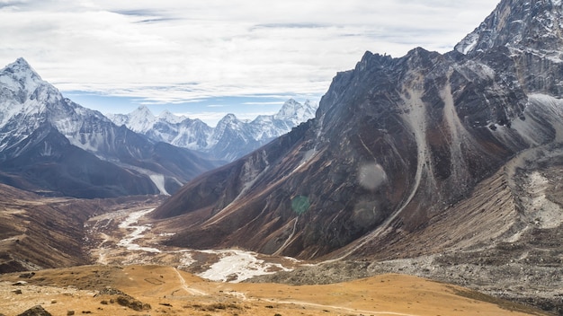
<path fill-rule="evenodd" d="M 219 120 L 217 127 L 209 127 L 197 118 L 177 117 L 167 110 L 156 117 L 145 106 L 130 114 L 111 114 L 108 117 L 116 125 L 125 125 L 155 141 L 232 162 L 314 118 L 316 110 L 317 105 L 311 101 L 301 104 L 290 99 L 274 115 L 261 115 L 246 121 L 228 114 Z"/>

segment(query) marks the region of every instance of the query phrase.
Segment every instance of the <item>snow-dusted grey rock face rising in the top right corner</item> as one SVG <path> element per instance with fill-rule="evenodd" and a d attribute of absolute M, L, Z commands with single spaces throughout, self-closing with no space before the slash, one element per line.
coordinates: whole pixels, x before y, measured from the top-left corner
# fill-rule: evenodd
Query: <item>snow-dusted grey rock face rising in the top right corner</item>
<path fill-rule="evenodd" d="M 455 49 L 503 69 L 500 75 L 506 84 L 559 96 L 562 21 L 563 4 L 558 1 L 503 0 Z"/>

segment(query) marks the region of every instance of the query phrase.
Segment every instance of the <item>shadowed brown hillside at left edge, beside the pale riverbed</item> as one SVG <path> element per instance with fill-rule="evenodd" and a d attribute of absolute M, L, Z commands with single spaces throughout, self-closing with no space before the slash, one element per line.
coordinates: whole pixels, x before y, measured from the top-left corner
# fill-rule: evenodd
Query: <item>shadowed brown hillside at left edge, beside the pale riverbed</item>
<path fill-rule="evenodd" d="M 41 198 L 0 185 L 0 273 L 88 264 L 85 221 L 151 199 Z"/>

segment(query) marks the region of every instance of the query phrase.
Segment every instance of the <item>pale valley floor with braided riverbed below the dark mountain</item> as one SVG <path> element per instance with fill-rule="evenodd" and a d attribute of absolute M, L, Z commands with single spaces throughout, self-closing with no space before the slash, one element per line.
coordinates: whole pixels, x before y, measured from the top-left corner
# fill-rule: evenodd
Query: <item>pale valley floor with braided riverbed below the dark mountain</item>
<path fill-rule="evenodd" d="M 85 247 L 102 265 L 161 265 L 180 268 L 219 282 L 289 271 L 299 260 L 229 250 L 189 250 L 162 245 L 174 235 L 158 230 L 147 215 L 154 208 L 133 208 L 98 215 L 85 223 Z"/>

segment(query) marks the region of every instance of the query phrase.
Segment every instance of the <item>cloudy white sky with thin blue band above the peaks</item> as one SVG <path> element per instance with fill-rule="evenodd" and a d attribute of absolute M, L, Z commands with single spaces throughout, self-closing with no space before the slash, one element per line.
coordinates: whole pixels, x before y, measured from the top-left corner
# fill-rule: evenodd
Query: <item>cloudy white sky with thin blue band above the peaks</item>
<path fill-rule="evenodd" d="M 201 118 L 320 101 L 366 50 L 450 51 L 498 0 L 0 0 L 0 68 L 23 57 L 103 113 Z"/>

